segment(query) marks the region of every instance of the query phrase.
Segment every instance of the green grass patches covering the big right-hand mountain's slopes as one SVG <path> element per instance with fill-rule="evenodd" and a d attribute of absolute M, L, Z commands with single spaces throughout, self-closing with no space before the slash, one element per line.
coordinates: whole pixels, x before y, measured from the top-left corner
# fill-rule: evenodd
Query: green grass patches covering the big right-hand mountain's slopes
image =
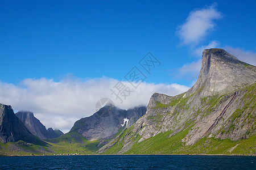
<path fill-rule="evenodd" d="M 188 133 L 189 130 L 195 125 L 195 120 L 186 122 L 183 130 L 179 131 L 175 135 L 172 135 L 174 131 L 166 131 L 165 133 L 160 133 L 154 137 L 145 139 L 142 142 L 139 142 L 139 139 L 142 137 L 133 133 L 133 126 L 129 129 L 126 129 L 122 132 L 119 137 L 115 138 L 113 141 L 110 141 L 112 146 L 107 148 L 103 154 L 226 154 L 226 155 L 255 155 L 256 154 L 256 136 L 255 136 L 255 83 L 251 86 L 243 87 L 240 91 L 245 92 L 245 95 L 242 97 L 242 104 L 238 105 L 236 111 L 230 116 L 225 122 L 228 126 L 222 127 L 220 129 L 220 134 L 233 133 L 235 130 L 234 125 L 243 124 L 251 125 L 250 129 L 246 132 L 246 139 L 240 139 L 239 141 L 232 141 L 229 138 L 218 139 L 214 138 L 215 135 L 206 135 L 204 138 L 201 138 L 192 146 L 186 146 L 185 142 L 182 142 Z M 189 98 L 191 96 L 188 96 Z M 203 117 L 212 112 L 216 106 L 221 103 L 222 98 L 225 96 L 212 96 L 208 98 L 203 98 L 201 100 L 201 105 L 208 105 L 209 107 L 204 107 L 201 109 Z M 156 103 L 155 109 L 166 108 L 169 105 L 181 104 L 184 102 L 181 97 L 177 96 L 175 100 L 170 101 L 168 104 Z M 187 106 L 186 106 L 187 107 Z M 159 113 L 160 114 L 160 113 Z M 179 113 L 182 114 L 182 113 Z M 192 113 L 194 114 L 194 113 Z M 155 117 L 148 117 L 148 119 L 155 120 Z M 242 119 L 242 120 L 241 120 Z M 171 137 L 170 137 L 171 136 Z M 127 143 L 133 143 L 133 145 L 127 150 L 123 150 L 124 146 Z M 101 152 L 102 154 L 102 152 Z"/>

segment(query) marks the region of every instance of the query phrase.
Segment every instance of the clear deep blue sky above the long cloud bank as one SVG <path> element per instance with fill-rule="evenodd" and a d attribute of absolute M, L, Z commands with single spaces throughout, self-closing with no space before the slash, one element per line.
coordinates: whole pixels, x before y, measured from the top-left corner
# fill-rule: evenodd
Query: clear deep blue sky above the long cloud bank
<path fill-rule="evenodd" d="M 162 66 L 147 82 L 189 85 L 171 74 L 195 59 L 175 32 L 189 12 L 214 2 L 1 1 L 1 81 L 59 80 L 67 74 L 122 79 L 151 52 Z M 255 52 L 256 2 L 217 4 L 223 17 L 199 45 L 217 40 L 221 46 Z"/>

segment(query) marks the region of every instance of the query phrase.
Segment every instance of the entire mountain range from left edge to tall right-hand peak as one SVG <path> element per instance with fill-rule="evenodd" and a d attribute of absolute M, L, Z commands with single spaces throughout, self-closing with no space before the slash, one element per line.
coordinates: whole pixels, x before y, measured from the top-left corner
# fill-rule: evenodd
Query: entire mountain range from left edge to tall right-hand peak
<path fill-rule="evenodd" d="M 15 116 L 0 105 L 0 140 L 17 148 L 17 141 L 32 143 L 22 149 L 36 154 L 255 155 L 255 72 L 223 49 L 205 49 L 199 77 L 183 94 L 155 93 L 147 107 L 127 111 L 106 105 L 63 135 L 46 130 L 31 112 Z M 0 154 L 9 150 L 0 143 Z"/>

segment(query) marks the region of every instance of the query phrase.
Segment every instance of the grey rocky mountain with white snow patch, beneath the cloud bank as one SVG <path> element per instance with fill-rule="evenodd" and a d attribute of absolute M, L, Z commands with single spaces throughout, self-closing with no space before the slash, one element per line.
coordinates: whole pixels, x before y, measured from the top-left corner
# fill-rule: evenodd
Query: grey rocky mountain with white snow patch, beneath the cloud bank
<path fill-rule="evenodd" d="M 92 116 L 76 121 L 70 132 L 77 132 L 90 141 L 108 139 L 117 134 L 119 129 L 134 124 L 145 113 L 146 107 L 126 111 L 105 105 Z"/>

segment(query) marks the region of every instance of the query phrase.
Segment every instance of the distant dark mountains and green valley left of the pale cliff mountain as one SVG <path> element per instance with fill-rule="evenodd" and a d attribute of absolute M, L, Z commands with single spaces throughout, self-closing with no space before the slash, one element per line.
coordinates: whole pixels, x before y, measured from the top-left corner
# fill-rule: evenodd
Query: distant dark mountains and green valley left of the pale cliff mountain
<path fill-rule="evenodd" d="M 14 114 L 11 106 L 0 106 L 0 155 L 67 151 L 92 154 L 146 113 L 146 107 L 126 111 L 114 105 L 105 105 L 92 116 L 76 121 L 73 128 L 63 134 L 52 128 L 46 130 L 32 112 Z"/>

